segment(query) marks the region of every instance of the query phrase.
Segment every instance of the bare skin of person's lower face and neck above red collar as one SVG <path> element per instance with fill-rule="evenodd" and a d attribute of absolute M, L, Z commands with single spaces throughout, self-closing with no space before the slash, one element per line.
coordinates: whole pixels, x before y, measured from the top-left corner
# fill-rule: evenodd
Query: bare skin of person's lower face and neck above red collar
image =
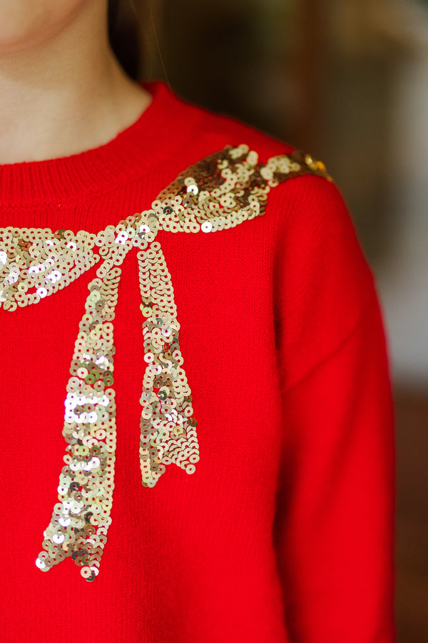
<path fill-rule="evenodd" d="M 150 101 L 108 44 L 107 0 L 0 0 L 0 164 L 106 144 Z"/>

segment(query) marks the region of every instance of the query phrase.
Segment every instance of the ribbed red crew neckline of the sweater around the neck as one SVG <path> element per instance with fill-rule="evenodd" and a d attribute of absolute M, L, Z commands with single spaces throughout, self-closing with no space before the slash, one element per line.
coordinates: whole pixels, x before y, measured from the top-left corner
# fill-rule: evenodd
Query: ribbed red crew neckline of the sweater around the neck
<path fill-rule="evenodd" d="M 66 204 L 112 191 L 180 149 L 194 125 L 183 116 L 185 103 L 161 81 L 142 86 L 152 95 L 151 103 L 106 144 L 58 159 L 0 164 L 0 203 Z"/>

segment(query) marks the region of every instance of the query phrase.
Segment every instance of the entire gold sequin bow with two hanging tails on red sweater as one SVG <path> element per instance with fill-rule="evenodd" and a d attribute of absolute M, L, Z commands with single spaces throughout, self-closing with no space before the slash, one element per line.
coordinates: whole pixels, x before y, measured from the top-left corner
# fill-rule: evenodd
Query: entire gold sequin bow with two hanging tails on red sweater
<path fill-rule="evenodd" d="M 121 264 L 138 251 L 146 371 L 141 395 L 143 485 L 154 487 L 171 462 L 191 474 L 199 460 L 192 396 L 178 342 L 180 324 L 159 229 L 213 232 L 264 213 L 267 192 L 325 166 L 295 151 L 258 164 L 248 146 L 227 146 L 190 166 L 153 201 L 98 234 L 70 230 L 0 229 L 0 306 L 38 304 L 101 261 L 88 284 L 67 384 L 63 436 L 67 447 L 58 503 L 44 532 L 36 565 L 44 572 L 71 556 L 92 581 L 111 524 L 116 447 L 113 319 Z"/>

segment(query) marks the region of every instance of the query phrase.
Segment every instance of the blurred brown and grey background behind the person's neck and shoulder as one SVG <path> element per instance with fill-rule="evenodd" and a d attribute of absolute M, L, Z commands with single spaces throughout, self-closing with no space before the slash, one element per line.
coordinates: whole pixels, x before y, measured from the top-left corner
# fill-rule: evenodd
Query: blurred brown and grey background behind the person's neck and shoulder
<path fill-rule="evenodd" d="M 345 196 L 392 359 L 398 642 L 428 642 L 428 0 L 112 0 L 111 37 L 134 77 L 310 151 Z"/>

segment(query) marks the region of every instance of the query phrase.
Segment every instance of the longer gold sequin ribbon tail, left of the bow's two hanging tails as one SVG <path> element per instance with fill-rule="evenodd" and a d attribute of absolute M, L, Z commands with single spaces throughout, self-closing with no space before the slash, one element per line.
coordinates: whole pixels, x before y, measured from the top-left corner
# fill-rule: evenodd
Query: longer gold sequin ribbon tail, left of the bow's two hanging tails
<path fill-rule="evenodd" d="M 97 277 L 88 285 L 71 362 L 63 427 L 68 447 L 59 502 L 44 532 L 44 551 L 36 559 L 37 567 L 47 572 L 71 556 L 88 581 L 98 574 L 111 524 L 116 449 L 112 321 L 121 269 L 101 268 L 103 279 Z"/>

